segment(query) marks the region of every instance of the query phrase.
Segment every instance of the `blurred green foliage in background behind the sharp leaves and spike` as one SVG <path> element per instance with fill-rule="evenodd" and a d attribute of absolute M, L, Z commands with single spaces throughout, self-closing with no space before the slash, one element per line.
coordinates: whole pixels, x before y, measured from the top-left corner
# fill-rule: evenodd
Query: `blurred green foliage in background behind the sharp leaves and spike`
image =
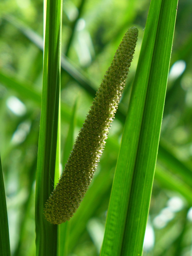
<path fill-rule="evenodd" d="M 123 35 L 131 26 L 139 29 L 134 60 L 106 148 L 90 189 L 70 221 L 71 256 L 99 255 L 149 5 L 149 0 L 63 1 L 61 154 L 77 98 L 74 141 Z M 191 14 L 191 0 L 179 1 L 144 255 L 192 255 Z M 11 251 L 13 256 L 34 255 L 43 1 L 1 0 L 0 15 L 0 152 Z"/>

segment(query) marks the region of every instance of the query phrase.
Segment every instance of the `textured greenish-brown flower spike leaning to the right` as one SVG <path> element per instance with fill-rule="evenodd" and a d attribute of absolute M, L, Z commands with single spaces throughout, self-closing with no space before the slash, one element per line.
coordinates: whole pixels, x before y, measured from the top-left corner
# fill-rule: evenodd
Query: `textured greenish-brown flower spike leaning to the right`
<path fill-rule="evenodd" d="M 65 170 L 45 204 L 44 215 L 53 224 L 69 220 L 88 189 L 125 86 L 137 36 L 137 28 L 132 27 L 123 37 L 80 129 Z"/>

